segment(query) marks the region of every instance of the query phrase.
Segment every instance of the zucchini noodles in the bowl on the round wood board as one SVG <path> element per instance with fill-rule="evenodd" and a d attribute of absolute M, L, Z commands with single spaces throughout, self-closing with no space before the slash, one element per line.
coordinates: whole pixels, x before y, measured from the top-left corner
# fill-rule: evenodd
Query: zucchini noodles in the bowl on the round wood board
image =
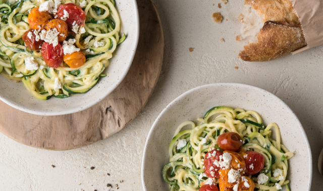
<path fill-rule="evenodd" d="M 0 0 L 0 73 L 15 81 L 23 81 L 26 88 L 41 100 L 51 96 L 67 98 L 71 94 L 84 93 L 92 88 L 109 66 L 109 59 L 117 45 L 126 36 L 120 35 L 120 18 L 114 0 L 86 0 L 85 31 L 75 36 L 76 46 L 86 55 L 86 62 L 79 68 L 70 68 L 66 63 L 56 69 L 47 67 L 40 51 L 25 48 L 23 34 L 30 29 L 29 11 L 39 7 L 44 0 Z M 63 0 L 62 5 L 80 5 L 83 0 Z M 84 4 L 84 3 L 83 3 Z M 68 37 L 67 40 L 71 38 Z M 72 37 L 74 38 L 74 37 Z M 87 40 L 85 40 L 87 39 Z M 97 42 L 103 46 L 97 46 Z M 24 58 L 33 57 L 39 68 L 28 71 Z M 55 78 L 59 78 L 61 89 L 55 89 Z M 25 83 L 26 82 L 26 83 Z"/>

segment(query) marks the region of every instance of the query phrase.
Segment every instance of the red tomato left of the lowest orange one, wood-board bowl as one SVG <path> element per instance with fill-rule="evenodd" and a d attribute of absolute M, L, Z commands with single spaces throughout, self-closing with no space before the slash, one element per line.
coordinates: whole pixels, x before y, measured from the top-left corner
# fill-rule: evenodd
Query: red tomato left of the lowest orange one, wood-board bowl
<path fill-rule="evenodd" d="M 52 44 L 44 42 L 41 46 L 41 56 L 44 59 L 47 66 L 52 68 L 58 68 L 63 62 L 63 48 L 61 44 L 53 47 Z"/>

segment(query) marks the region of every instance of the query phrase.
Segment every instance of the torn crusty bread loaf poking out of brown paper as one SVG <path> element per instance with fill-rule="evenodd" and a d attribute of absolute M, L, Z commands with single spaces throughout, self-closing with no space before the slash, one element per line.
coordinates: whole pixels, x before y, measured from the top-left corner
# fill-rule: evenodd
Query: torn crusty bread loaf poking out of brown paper
<path fill-rule="evenodd" d="M 239 39 L 249 38 L 239 53 L 242 60 L 274 60 L 307 45 L 289 0 L 245 0 L 239 19 Z"/>

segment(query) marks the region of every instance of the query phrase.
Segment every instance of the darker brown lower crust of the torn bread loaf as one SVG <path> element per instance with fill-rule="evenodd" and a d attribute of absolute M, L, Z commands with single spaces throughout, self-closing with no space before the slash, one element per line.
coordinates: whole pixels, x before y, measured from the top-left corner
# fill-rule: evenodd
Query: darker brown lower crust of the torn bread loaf
<path fill-rule="evenodd" d="M 290 25 L 287 22 L 266 21 L 257 38 L 258 42 L 244 46 L 239 58 L 251 62 L 270 61 L 307 45 L 299 23 Z"/>

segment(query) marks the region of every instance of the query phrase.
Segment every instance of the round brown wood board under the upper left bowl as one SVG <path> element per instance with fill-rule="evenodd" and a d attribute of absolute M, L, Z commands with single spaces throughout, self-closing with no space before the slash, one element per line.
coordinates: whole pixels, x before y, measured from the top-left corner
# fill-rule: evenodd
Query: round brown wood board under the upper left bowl
<path fill-rule="evenodd" d="M 103 101 L 82 112 L 37 116 L 0 101 L 0 131 L 32 147 L 68 150 L 90 145 L 136 118 L 154 89 L 164 54 L 164 35 L 152 1 L 138 0 L 140 32 L 135 58 L 122 83 Z"/>

